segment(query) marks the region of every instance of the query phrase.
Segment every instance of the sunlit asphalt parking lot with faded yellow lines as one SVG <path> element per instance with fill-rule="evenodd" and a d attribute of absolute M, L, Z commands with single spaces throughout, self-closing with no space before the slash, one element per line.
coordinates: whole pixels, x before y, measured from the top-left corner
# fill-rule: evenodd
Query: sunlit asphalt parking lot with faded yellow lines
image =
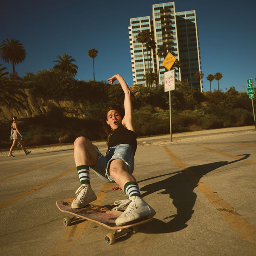
<path fill-rule="evenodd" d="M 111 230 L 98 224 L 62 224 L 67 215 L 55 202 L 79 187 L 72 145 L 1 154 L 0 255 L 256 255 L 255 128 L 213 133 L 138 140 L 134 176 L 157 214 L 113 245 L 104 241 Z M 126 198 L 90 177 L 96 204 Z"/>

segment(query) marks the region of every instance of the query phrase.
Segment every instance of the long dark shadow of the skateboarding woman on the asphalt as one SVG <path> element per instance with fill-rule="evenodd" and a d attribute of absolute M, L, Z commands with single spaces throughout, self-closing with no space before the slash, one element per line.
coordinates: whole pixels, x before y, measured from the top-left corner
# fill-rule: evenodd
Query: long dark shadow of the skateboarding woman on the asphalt
<path fill-rule="evenodd" d="M 176 172 L 176 175 L 174 175 L 175 173 L 169 173 L 146 179 L 151 180 L 166 175 L 174 175 L 156 183 L 146 185 L 140 188 L 140 190 L 145 191 L 142 194 L 143 197 L 152 193 L 157 193 L 158 191 L 161 191 L 159 192 L 161 194 L 169 194 L 170 198 L 173 200 L 174 206 L 177 208 L 177 213 L 166 215 L 163 220 L 157 220 L 156 218 L 154 218 L 151 224 L 143 225 L 140 228 L 140 232 L 171 233 L 186 228 L 188 226 L 186 222 L 189 221 L 190 218 L 192 218 L 192 214 L 194 212 L 193 207 L 197 198 L 194 189 L 196 186 L 198 186 L 198 182 L 201 177 L 209 172 L 212 172 L 215 169 L 220 168 L 221 166 L 239 162 L 248 158 L 249 156 L 250 154 L 244 154 L 244 157 L 240 158 L 239 160 L 234 160 L 231 162 L 220 161 L 200 166 L 192 166 L 180 172 Z M 142 181 L 145 180 L 140 180 L 139 182 Z M 167 202 L 160 202 L 159 209 L 161 209 L 162 207 L 166 207 L 166 203 Z M 161 206 L 161 204 L 163 206 Z M 170 221 L 166 222 L 166 220 L 168 219 L 170 219 Z"/>

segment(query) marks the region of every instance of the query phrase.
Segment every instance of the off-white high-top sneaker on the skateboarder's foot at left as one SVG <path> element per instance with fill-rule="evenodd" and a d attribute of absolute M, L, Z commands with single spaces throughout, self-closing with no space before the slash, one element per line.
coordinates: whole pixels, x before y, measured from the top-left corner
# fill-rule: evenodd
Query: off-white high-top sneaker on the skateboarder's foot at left
<path fill-rule="evenodd" d="M 72 209 L 84 207 L 90 202 L 95 201 L 97 199 L 97 196 L 93 192 L 93 189 L 90 184 L 82 184 L 76 190 L 76 196 L 76 199 L 74 199 L 71 204 Z"/>

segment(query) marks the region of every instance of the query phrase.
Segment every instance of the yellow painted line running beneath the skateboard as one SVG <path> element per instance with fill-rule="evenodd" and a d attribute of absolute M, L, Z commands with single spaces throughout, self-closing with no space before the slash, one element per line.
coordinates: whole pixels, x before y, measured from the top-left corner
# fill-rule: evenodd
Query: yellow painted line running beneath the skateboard
<path fill-rule="evenodd" d="M 100 205 L 107 195 L 108 191 L 113 187 L 113 183 L 105 183 L 102 189 L 97 193 L 97 200 L 93 201 L 93 204 Z M 83 221 L 79 225 L 73 225 L 67 228 L 67 231 L 63 234 L 61 239 L 55 245 L 48 256 L 67 256 L 76 244 L 77 240 L 81 236 L 82 231 L 86 227 L 89 221 Z"/>

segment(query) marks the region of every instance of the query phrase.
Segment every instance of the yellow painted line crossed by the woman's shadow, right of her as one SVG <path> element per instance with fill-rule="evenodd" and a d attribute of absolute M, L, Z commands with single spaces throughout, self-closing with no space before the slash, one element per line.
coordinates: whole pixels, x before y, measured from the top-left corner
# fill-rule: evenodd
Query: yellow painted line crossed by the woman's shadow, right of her
<path fill-rule="evenodd" d="M 199 191 L 207 198 L 207 200 L 215 207 L 215 209 L 224 218 L 230 227 L 239 233 L 243 240 L 250 240 L 256 237 L 256 228 L 246 221 L 236 210 L 224 201 L 218 194 L 201 179 L 199 179 L 194 172 L 189 170 L 166 146 L 163 146 L 170 157 L 175 161 L 181 171 L 188 175 L 189 179 L 193 181 Z M 205 147 L 202 147 L 205 148 Z M 227 155 L 227 154 L 225 154 Z M 198 181 L 199 180 L 199 181 Z"/>

